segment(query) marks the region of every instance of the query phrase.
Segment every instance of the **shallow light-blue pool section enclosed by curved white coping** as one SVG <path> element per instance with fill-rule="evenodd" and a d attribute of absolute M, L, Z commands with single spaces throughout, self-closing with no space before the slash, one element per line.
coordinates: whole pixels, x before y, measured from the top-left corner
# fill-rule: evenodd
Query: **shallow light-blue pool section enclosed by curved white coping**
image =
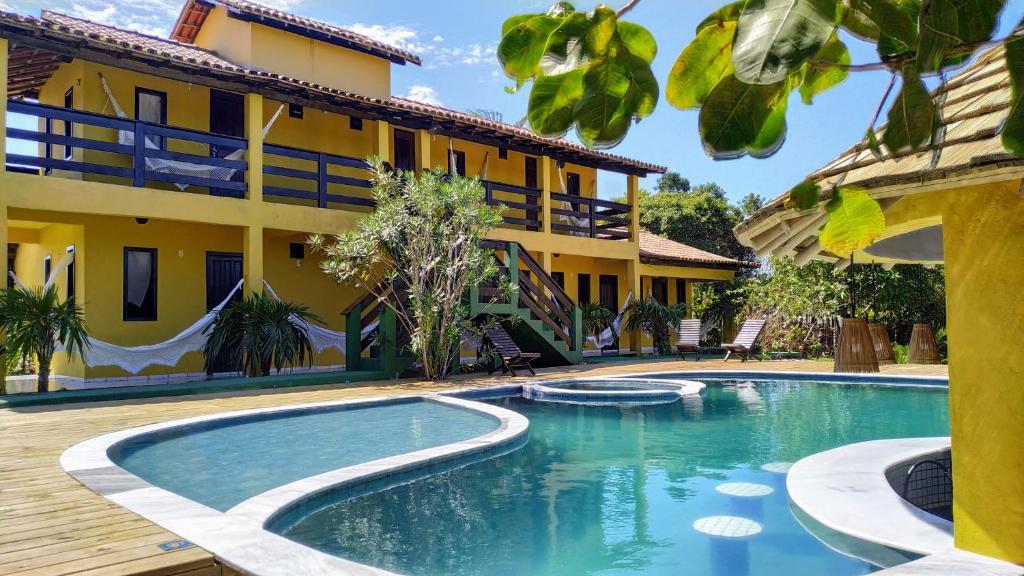
<path fill-rule="evenodd" d="M 139 478 L 224 511 L 336 468 L 487 434 L 498 418 L 407 400 L 243 416 L 143 435 L 111 449 Z"/>

